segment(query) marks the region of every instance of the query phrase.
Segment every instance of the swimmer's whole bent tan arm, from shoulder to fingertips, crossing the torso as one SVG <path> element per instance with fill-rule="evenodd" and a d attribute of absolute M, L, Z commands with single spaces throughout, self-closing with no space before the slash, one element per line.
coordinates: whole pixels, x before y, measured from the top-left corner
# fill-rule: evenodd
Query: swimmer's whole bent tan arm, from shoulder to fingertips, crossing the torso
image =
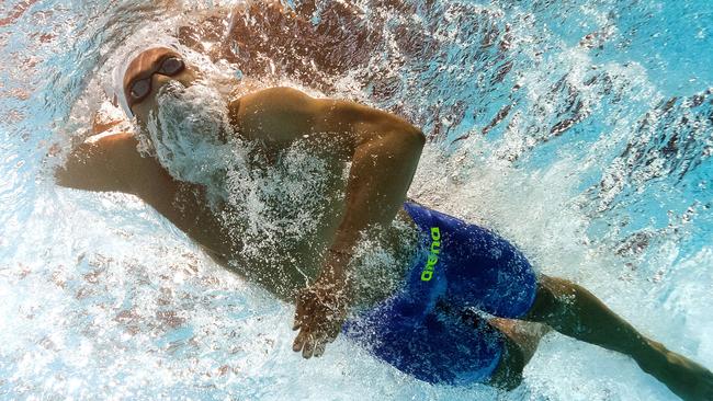
<path fill-rule="evenodd" d="M 231 103 L 238 135 L 271 147 L 309 138 L 315 149 L 351 161 L 346 210 L 318 279 L 297 295 L 293 351 L 321 355 L 337 337 L 351 303 L 348 272 L 360 232 L 388 226 L 406 197 L 426 142 L 392 114 L 353 102 L 313 99 L 288 88 L 251 93 Z"/>

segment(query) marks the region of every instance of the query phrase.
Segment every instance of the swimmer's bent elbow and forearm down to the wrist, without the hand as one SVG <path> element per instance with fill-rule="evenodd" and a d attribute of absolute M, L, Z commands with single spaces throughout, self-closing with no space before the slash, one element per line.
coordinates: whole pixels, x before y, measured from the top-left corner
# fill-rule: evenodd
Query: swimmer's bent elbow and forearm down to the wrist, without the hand
<path fill-rule="evenodd" d="M 426 137 L 403 118 L 353 102 L 325 104 L 326 125 L 341 134 L 351 159 L 346 209 L 331 249 L 351 252 L 360 232 L 388 227 L 411 184 Z M 339 135 L 339 134 L 338 134 Z"/>

